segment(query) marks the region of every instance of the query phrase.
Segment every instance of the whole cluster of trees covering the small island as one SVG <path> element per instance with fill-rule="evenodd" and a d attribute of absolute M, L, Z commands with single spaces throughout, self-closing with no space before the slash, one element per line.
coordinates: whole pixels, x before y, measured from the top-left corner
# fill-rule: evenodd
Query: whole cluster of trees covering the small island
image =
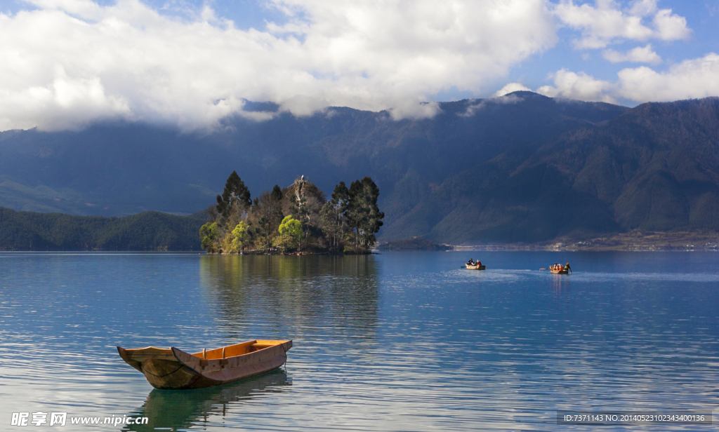
<path fill-rule="evenodd" d="M 210 220 L 201 227 L 202 247 L 208 253 L 369 253 L 384 213 L 377 207 L 380 189 L 370 177 L 344 182 L 331 199 L 304 176 L 280 189 L 250 199 L 249 189 L 232 172 Z"/>

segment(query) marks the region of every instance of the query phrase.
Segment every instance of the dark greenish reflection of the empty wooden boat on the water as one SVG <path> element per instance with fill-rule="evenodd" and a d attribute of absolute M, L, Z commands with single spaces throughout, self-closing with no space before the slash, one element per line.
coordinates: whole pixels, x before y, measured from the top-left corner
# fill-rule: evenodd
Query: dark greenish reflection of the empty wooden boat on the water
<path fill-rule="evenodd" d="M 292 385 L 283 370 L 232 384 L 196 390 L 152 390 L 141 408 L 129 417 L 147 417 L 147 424 L 127 425 L 123 431 L 149 432 L 157 428 L 178 431 L 213 422 L 229 413 L 237 418 L 242 400 L 280 393 Z"/>

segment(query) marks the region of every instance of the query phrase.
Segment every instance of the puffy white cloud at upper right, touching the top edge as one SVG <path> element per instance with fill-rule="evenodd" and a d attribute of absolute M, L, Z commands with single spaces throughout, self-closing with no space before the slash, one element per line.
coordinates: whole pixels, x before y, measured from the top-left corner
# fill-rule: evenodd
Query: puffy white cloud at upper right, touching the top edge
<path fill-rule="evenodd" d="M 574 46 L 580 49 L 605 48 L 627 39 L 686 39 L 691 34 L 687 19 L 672 14 L 672 9 L 657 10 L 656 0 L 634 1 L 628 10 L 622 10 L 613 0 L 596 0 L 594 6 L 561 0 L 554 7 L 554 14 L 567 27 L 581 30 L 582 38 L 574 41 Z M 651 15 L 654 18 L 649 27 L 644 17 Z"/>

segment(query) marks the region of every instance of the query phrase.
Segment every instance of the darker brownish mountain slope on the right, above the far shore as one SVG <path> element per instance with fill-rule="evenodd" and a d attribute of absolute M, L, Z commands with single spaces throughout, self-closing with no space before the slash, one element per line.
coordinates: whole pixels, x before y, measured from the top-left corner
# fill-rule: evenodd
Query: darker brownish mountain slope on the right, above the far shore
<path fill-rule="evenodd" d="M 719 230 L 719 98 L 646 103 L 521 161 L 499 154 L 446 179 L 385 238 L 531 243 L 635 228 Z"/>

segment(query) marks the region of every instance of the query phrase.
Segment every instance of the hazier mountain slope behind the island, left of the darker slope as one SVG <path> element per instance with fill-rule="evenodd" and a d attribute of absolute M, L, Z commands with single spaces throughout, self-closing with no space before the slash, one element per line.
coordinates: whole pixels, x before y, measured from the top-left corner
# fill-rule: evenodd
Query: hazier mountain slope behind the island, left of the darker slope
<path fill-rule="evenodd" d="M 216 131 L 99 124 L 84 131 L 0 133 L 0 205 L 15 210 L 122 216 L 191 213 L 214 202 L 237 170 L 253 196 L 305 174 L 325 192 L 338 179 L 375 179 L 393 222 L 433 188 L 478 162 L 539 146 L 626 108 L 518 92 L 441 103 L 434 118 L 328 108 L 268 121 L 228 118 Z M 257 109 L 273 110 L 271 104 Z"/>

